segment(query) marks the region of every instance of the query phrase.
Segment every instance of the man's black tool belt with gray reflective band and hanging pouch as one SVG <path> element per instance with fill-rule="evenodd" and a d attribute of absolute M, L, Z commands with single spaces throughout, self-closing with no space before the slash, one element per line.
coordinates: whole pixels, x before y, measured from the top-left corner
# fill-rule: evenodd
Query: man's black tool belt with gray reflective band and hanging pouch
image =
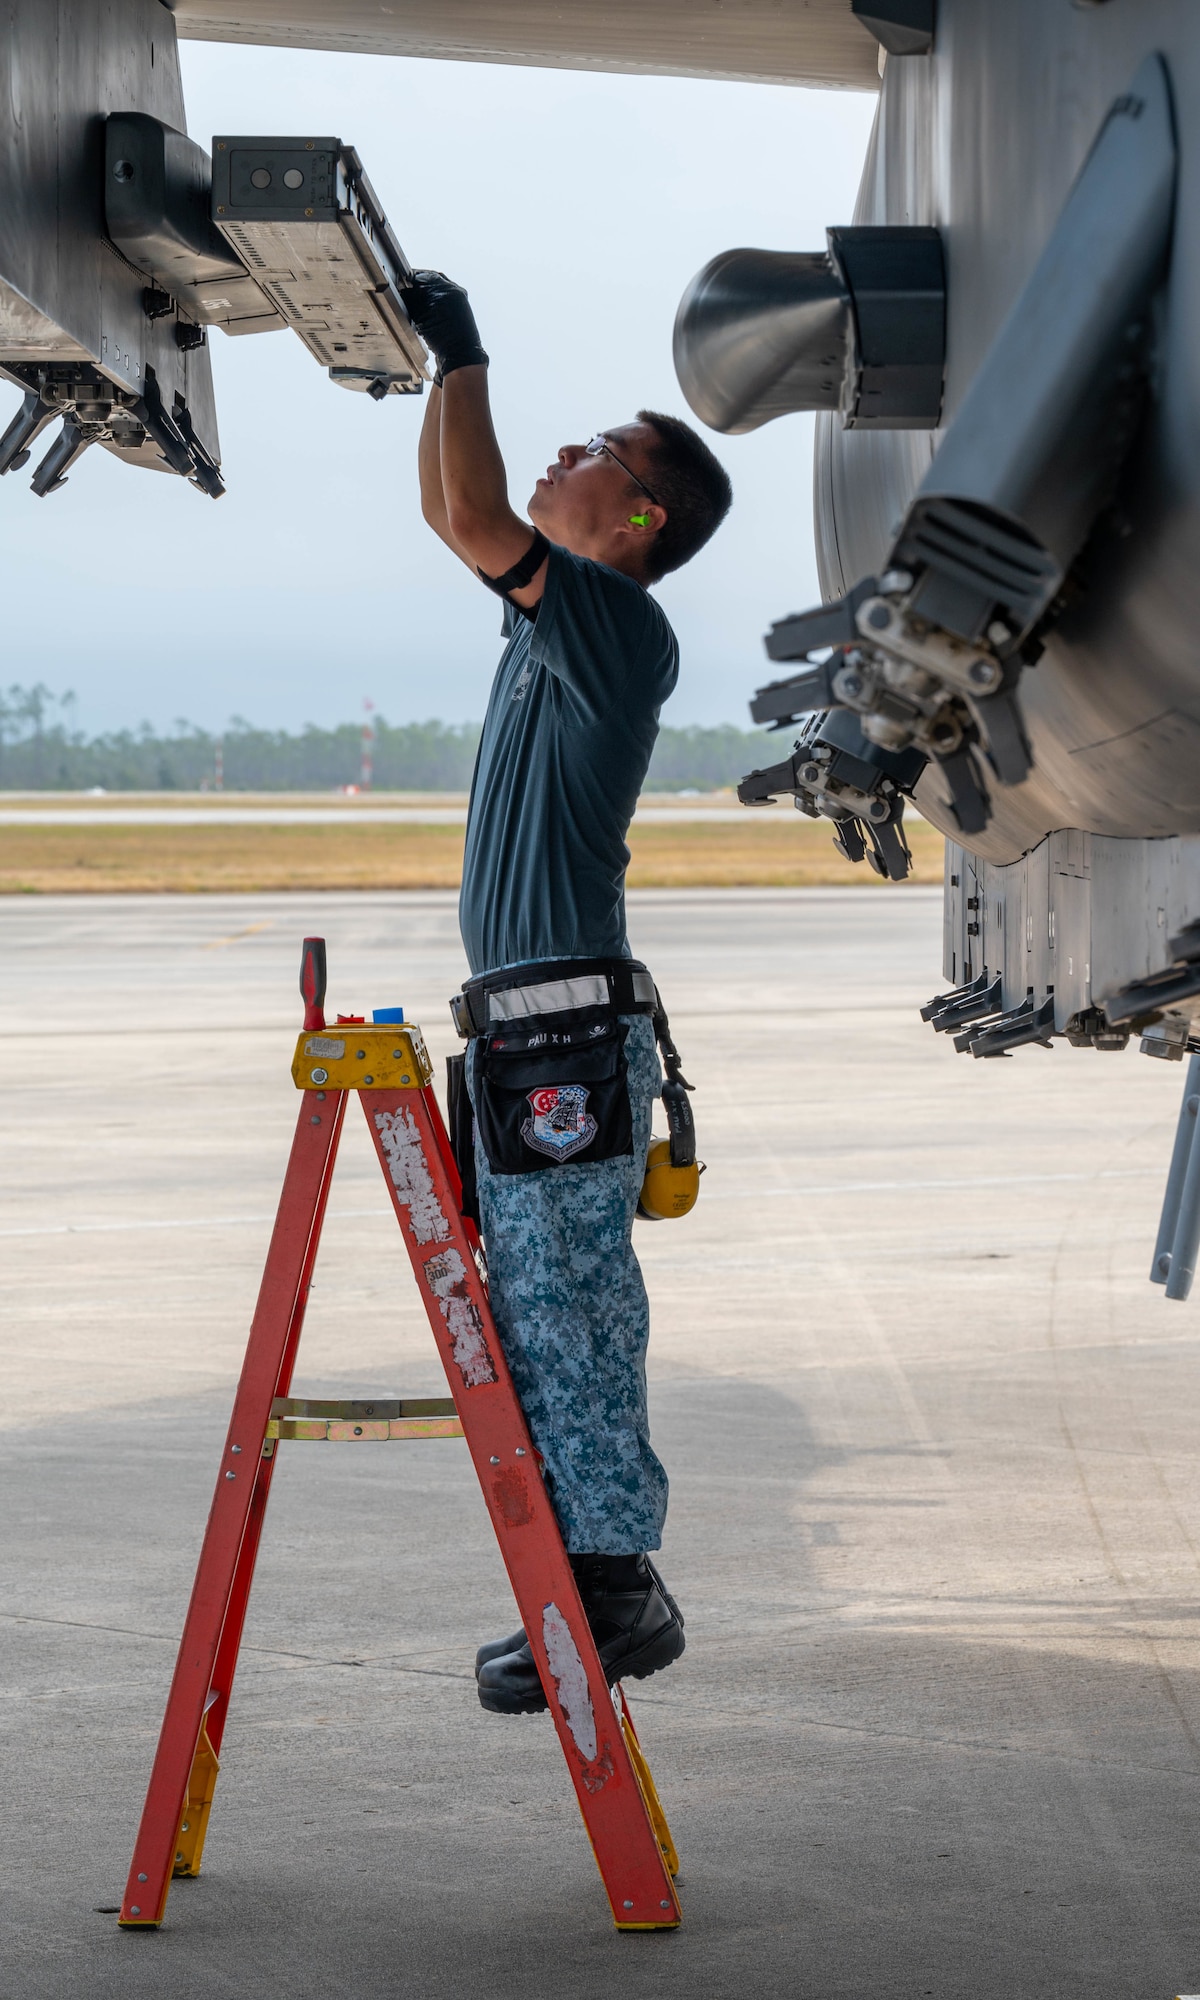
<path fill-rule="evenodd" d="M 662 1050 L 662 1100 L 672 1164 L 696 1158 L 692 1108 L 658 988 L 636 958 L 562 958 L 508 966 L 468 980 L 450 1002 L 454 1026 L 472 1036 L 470 1058 L 448 1062 L 450 1138 L 474 1198 L 472 1110 L 464 1062 L 472 1060 L 474 1120 L 494 1174 L 540 1174 L 568 1162 L 628 1158 L 634 1124 L 620 1016 L 650 1014 Z M 676 1160 L 678 1154 L 678 1160 Z"/>

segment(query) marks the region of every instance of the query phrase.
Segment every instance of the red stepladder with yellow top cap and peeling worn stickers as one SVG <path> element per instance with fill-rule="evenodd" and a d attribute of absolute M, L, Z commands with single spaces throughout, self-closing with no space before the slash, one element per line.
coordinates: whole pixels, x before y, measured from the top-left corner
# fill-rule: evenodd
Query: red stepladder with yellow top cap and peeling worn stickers
<path fill-rule="evenodd" d="M 296 1086 L 304 1092 L 300 1118 L 120 1924 L 162 1924 L 172 1876 L 200 1874 L 280 1442 L 462 1436 L 534 1648 L 616 1928 L 672 1930 L 680 1922 L 680 1904 L 670 1830 L 624 1692 L 604 1678 L 500 1350 L 478 1234 L 462 1216 L 458 1170 L 420 1028 L 368 1026 L 356 1016 L 340 1016 L 326 1028 L 324 988 L 324 938 L 306 938 L 300 970 L 304 1032 L 292 1064 Z M 334 1404 L 288 1396 L 352 1090 L 380 1156 L 452 1400 Z"/>

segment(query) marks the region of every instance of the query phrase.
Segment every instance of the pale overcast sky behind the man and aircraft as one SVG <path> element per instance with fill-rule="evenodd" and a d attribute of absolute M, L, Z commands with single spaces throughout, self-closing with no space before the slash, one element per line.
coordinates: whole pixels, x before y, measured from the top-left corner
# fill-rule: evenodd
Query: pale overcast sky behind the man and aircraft
<path fill-rule="evenodd" d="M 822 248 L 850 220 L 874 98 L 468 62 L 182 44 L 188 128 L 358 146 L 418 266 L 470 290 L 516 506 L 558 444 L 686 412 L 670 334 L 732 244 Z M 4 682 L 78 692 L 88 730 L 484 712 L 496 602 L 424 528 L 424 402 L 334 388 L 288 334 L 210 334 L 224 478 L 92 450 L 36 500 L 0 480 Z M 0 384 L 0 428 L 18 394 Z M 48 434 L 52 436 L 52 434 Z M 816 596 L 812 420 L 714 438 L 734 512 L 658 586 L 682 648 L 664 722 L 746 724 L 762 632 Z"/>

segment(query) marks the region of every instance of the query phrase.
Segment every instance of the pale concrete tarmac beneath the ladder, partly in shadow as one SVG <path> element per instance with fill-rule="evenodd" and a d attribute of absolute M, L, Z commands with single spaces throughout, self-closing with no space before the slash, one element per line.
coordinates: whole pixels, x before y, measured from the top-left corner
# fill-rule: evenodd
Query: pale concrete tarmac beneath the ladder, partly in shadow
<path fill-rule="evenodd" d="M 284 1446 L 204 1874 L 130 1844 L 330 1006 L 436 1056 L 454 898 L 8 898 L 0 2000 L 1200 1992 L 1200 1296 L 1146 1280 L 1182 1072 L 954 1056 L 926 890 L 644 892 L 702 1200 L 640 1224 L 662 1566 L 630 1698 L 684 1926 L 618 1936 L 460 1442 Z M 438 1394 L 350 1110 L 298 1394 Z"/>

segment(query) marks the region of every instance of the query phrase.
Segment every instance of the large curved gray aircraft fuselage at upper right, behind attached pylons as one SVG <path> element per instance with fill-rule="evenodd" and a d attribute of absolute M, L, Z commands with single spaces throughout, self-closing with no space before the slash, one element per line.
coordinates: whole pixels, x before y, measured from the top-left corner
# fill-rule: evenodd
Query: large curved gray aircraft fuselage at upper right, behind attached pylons
<path fill-rule="evenodd" d="M 1156 392 L 1118 518 L 1088 548 L 1080 596 L 1022 678 L 1034 768 L 1024 784 L 994 788 L 994 816 L 970 840 L 990 862 L 1016 862 L 1058 828 L 1200 830 L 1200 32 L 1190 0 L 942 0 L 934 54 L 886 64 L 854 216 L 940 230 L 946 398 L 940 432 L 842 430 L 834 414 L 818 416 L 824 596 L 882 566 L 1106 106 L 1150 52 L 1168 64 L 1178 140 Z M 916 800 L 958 838 L 934 766 Z"/>

